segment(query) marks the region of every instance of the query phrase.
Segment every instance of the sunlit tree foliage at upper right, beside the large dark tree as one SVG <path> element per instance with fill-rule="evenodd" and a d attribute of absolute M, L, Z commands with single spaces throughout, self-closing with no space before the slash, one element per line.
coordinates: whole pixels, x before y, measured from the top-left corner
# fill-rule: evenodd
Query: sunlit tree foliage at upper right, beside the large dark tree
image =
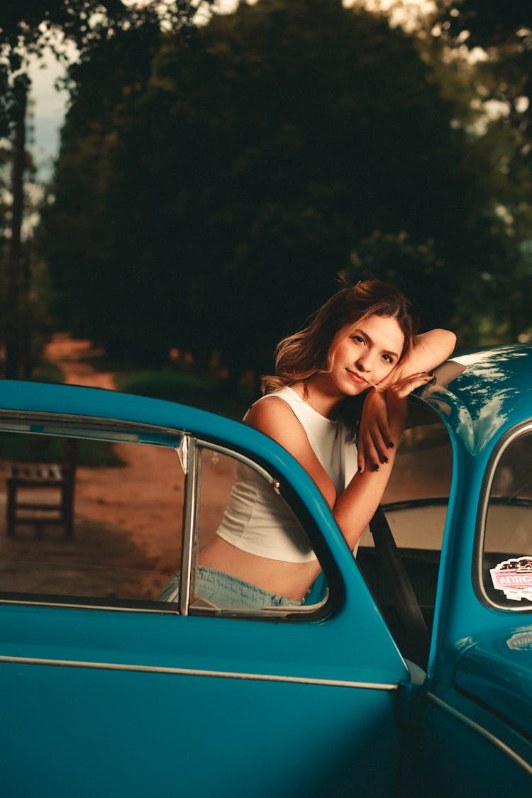
<path fill-rule="evenodd" d="M 530 327 L 532 302 L 530 3 L 443 0 L 432 23 L 448 49 L 484 53 L 473 75 L 476 105 L 485 117 L 477 150 L 491 159 L 484 184 L 494 198 L 496 223 L 505 227 L 506 246 L 500 267 L 483 269 L 481 279 L 492 316 L 515 339 Z"/>

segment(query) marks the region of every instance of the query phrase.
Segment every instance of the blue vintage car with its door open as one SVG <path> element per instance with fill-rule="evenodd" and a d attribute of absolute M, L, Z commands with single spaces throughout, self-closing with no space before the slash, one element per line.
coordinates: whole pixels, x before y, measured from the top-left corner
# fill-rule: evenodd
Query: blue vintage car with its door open
<path fill-rule="evenodd" d="M 441 496 L 424 496 L 384 507 L 394 517 L 418 514 L 427 540 L 427 512 L 439 513 L 442 527 L 444 519 L 436 554 L 420 547 L 419 562 L 435 563 L 427 566 L 435 598 L 419 657 L 410 654 L 416 633 L 408 618 L 405 634 L 394 637 L 377 606 L 379 588 L 363 567 L 371 545 L 353 559 L 312 481 L 261 433 L 183 405 L 69 385 L 2 381 L 0 408 L 10 440 L 31 433 L 132 441 L 177 452 L 185 473 L 182 554 L 169 571 L 181 570 L 183 588 L 171 605 L 107 588 L 75 595 L 76 581 L 69 592 L 55 583 L 42 588 L 50 550 L 55 574 L 56 561 L 88 539 L 75 529 L 63 545 L 45 530 L 35 543 L 41 555 L 33 530 L 13 539 L 4 533 L 6 796 L 532 792 L 532 348 L 455 358 L 412 399 L 412 417 L 428 419 L 439 436 L 443 430 L 452 460 L 443 506 Z M 199 451 L 207 452 L 203 472 Z M 198 483 L 207 490 L 208 469 L 228 453 L 254 464 L 308 531 L 328 588 L 317 589 L 308 609 L 246 613 L 195 598 Z M 416 449 L 406 452 L 404 462 L 417 457 Z M 149 496 L 149 471 L 145 480 Z M 506 513 L 500 527 L 499 513 Z M 412 546 L 400 546 L 406 559 Z M 85 555 L 72 556 L 81 574 Z M 20 588 L 22 578 L 30 581 Z M 508 579 L 518 592 L 510 598 L 495 587 Z M 396 588 L 387 587 L 393 605 Z"/>

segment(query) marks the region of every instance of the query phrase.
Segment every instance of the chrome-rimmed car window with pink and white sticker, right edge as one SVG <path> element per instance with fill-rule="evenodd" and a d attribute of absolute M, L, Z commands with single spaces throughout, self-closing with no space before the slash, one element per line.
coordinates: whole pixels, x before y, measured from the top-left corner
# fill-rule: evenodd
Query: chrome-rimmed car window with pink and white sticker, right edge
<path fill-rule="evenodd" d="M 511 433 L 491 461 L 480 587 L 507 610 L 532 609 L 532 429 Z"/>

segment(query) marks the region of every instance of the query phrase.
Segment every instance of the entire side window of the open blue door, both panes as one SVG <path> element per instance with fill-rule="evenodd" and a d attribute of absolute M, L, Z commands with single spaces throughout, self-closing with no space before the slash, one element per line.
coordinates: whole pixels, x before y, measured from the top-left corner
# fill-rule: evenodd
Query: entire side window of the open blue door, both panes
<path fill-rule="evenodd" d="M 238 452 L 178 433 L 83 429 L 77 437 L 75 426 L 55 435 L 51 424 L 42 428 L 47 434 L 33 433 L 35 425 L 27 433 L 24 424 L 6 427 L 18 432 L 0 433 L 3 600 L 248 616 L 305 614 L 325 601 L 321 575 L 298 599 L 276 593 L 272 605 L 269 595 L 262 602 L 270 591 L 239 572 L 260 597 L 253 610 L 231 594 L 220 600 L 207 591 L 203 556 L 223 529 L 238 535 L 240 519 L 233 523 L 231 513 L 241 508 L 234 495 L 242 486 L 256 502 L 255 514 L 262 512 L 261 534 L 268 538 L 281 525 L 290 536 L 289 555 L 313 560 L 320 571 L 278 483 Z M 154 442 L 159 438 L 161 444 Z M 286 563 L 270 562 L 276 578 Z M 231 579 L 234 567 L 227 571 Z"/>

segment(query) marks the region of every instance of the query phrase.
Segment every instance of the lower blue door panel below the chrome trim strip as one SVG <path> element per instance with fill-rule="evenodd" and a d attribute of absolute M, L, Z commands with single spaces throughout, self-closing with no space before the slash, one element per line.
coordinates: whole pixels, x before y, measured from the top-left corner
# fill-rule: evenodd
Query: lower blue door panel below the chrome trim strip
<path fill-rule="evenodd" d="M 399 738 L 390 691 L 19 663 L 2 670 L 6 794 L 60 798 L 73 784 L 80 796 L 392 789 Z"/>

